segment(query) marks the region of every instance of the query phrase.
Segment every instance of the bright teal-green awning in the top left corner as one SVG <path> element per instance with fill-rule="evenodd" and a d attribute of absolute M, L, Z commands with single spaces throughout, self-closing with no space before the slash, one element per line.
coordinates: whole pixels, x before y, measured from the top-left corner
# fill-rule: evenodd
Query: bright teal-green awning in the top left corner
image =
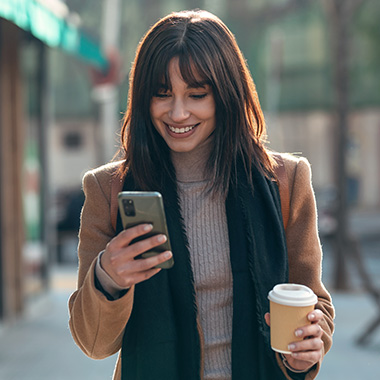
<path fill-rule="evenodd" d="M 92 66 L 105 69 L 108 62 L 99 44 L 65 17 L 54 13 L 47 4 L 47 0 L 0 0 L 0 17 L 30 32 L 50 47 L 61 48 Z"/>

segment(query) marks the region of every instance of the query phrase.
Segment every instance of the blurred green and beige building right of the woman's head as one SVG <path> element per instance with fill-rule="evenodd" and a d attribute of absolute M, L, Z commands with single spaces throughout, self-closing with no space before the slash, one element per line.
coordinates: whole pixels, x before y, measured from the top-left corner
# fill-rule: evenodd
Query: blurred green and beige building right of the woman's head
<path fill-rule="evenodd" d="M 270 146 L 306 156 L 312 164 L 318 198 L 330 196 L 327 194 L 334 192 L 335 185 L 337 122 L 328 2 L 227 3 L 226 22 L 254 76 Z M 380 212 L 379 17 L 376 0 L 364 1 L 356 9 L 349 20 L 345 63 L 348 200 L 356 209 L 371 212 Z"/>

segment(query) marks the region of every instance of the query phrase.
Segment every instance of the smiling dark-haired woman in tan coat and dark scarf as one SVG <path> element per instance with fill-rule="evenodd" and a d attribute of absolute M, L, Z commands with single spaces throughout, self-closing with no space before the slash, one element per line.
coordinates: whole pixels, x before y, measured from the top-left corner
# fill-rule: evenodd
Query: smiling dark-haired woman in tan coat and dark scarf
<path fill-rule="evenodd" d="M 321 283 L 310 168 L 264 147 L 233 35 L 208 12 L 170 14 L 140 42 L 130 78 L 124 160 L 83 181 L 75 341 L 93 358 L 119 352 L 114 379 L 313 379 L 334 310 Z M 118 217 L 113 228 L 115 178 L 124 190 L 162 193 L 172 252 L 134 260 L 167 237 L 131 244 L 151 226 L 122 231 Z M 279 187 L 290 192 L 286 230 Z M 172 256 L 172 269 L 155 268 Z M 319 302 L 297 331 L 304 339 L 281 357 L 270 348 L 267 294 L 283 282 L 309 286 Z"/>

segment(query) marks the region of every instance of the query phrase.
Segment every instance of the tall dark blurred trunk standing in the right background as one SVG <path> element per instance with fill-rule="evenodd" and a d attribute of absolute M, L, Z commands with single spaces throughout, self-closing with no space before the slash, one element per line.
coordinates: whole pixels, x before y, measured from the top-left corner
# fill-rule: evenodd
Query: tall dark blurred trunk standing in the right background
<path fill-rule="evenodd" d="M 333 60 L 333 83 L 335 95 L 335 187 L 337 229 L 334 239 L 334 288 L 349 288 L 347 257 L 352 251 L 348 231 L 347 160 L 349 104 L 349 27 L 359 6 L 364 0 L 325 0 L 330 24 L 331 56 Z"/>

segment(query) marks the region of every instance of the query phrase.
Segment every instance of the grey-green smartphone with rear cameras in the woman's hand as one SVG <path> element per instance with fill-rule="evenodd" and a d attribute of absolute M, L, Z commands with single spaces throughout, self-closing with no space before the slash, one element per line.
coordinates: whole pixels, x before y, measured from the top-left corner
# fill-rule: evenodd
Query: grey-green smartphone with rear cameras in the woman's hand
<path fill-rule="evenodd" d="M 143 223 L 153 225 L 153 229 L 149 233 L 139 236 L 132 243 L 158 234 L 164 234 L 167 237 L 165 243 L 144 252 L 137 258 L 152 257 L 164 251 L 171 251 L 164 203 L 159 192 L 122 191 L 118 194 L 118 204 L 124 229 Z M 173 265 L 172 257 L 157 265 L 157 268 L 169 269 Z"/>

